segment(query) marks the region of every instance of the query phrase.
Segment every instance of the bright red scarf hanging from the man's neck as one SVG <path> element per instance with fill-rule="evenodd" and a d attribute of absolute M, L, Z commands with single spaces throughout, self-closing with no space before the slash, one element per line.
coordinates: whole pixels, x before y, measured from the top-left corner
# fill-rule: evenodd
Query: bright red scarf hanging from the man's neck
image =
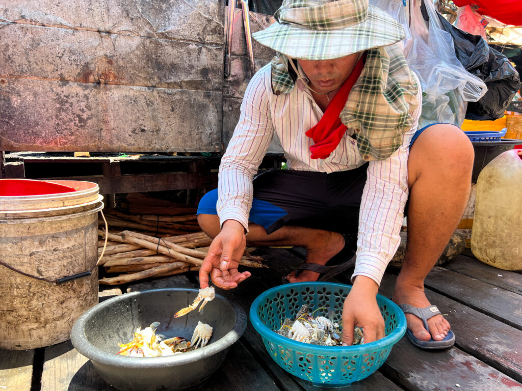
<path fill-rule="evenodd" d="M 330 156 L 330 153 L 337 148 L 337 145 L 345 135 L 347 127 L 341 123 L 339 115 L 341 110 L 346 105 L 348 100 L 348 94 L 355 84 L 355 81 L 359 79 L 362 68 L 364 66 L 363 58 L 359 59 L 355 67 L 353 68 L 348 79 L 342 83 L 339 91 L 335 94 L 334 98 L 326 107 L 323 117 L 319 120 L 310 130 L 306 131 L 306 136 L 314 140 L 314 145 L 310 147 L 313 159 L 325 159 Z"/>

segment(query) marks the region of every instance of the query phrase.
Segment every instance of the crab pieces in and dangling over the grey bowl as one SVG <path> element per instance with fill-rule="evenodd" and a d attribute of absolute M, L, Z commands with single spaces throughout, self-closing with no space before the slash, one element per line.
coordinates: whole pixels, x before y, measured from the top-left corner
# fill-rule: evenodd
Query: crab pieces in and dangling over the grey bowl
<path fill-rule="evenodd" d="M 199 307 L 199 311 L 201 311 L 201 308 L 203 308 L 205 304 L 214 297 L 213 287 L 200 289 L 198 296 L 191 306 L 176 312 L 174 317 L 179 317 L 195 310 L 198 304 L 203 301 L 203 304 Z M 203 348 L 208 344 L 208 341 L 212 336 L 212 327 L 206 323 L 198 321 L 194 328 L 194 332 L 192 333 L 191 340 L 188 341 L 183 337 L 164 339 L 163 335 L 156 334 L 156 329 L 159 325 L 159 322 L 154 322 L 143 330 L 141 327 L 138 327 L 131 342 L 127 344 L 118 344 L 121 348 L 120 351 L 118 351 L 118 355 L 129 357 L 171 356 L 189 350 Z"/>

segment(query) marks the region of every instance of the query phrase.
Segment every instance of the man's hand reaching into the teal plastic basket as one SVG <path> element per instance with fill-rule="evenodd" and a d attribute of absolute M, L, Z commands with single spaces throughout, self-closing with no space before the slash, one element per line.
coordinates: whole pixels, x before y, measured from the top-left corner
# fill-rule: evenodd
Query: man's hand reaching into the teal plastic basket
<path fill-rule="evenodd" d="M 377 305 L 377 283 L 366 276 L 355 277 L 342 308 L 342 345 L 353 343 L 353 328 L 362 327 L 364 343 L 383 338 L 384 319 Z"/>

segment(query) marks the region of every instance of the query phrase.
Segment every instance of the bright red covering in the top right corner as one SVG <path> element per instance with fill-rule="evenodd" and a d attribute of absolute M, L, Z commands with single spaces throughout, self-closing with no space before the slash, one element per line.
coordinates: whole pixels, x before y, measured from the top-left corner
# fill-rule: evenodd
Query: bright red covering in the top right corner
<path fill-rule="evenodd" d="M 484 16 L 491 16 L 506 25 L 522 25 L 522 1 L 520 0 L 453 0 L 457 7 L 477 5 L 477 12 Z"/>

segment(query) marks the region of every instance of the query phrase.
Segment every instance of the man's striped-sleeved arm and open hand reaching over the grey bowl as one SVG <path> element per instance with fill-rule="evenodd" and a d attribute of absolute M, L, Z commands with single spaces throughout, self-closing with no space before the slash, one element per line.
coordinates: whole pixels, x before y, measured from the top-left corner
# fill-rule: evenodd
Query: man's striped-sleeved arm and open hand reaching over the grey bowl
<path fill-rule="evenodd" d="M 274 134 L 269 81 L 268 65 L 248 83 L 239 123 L 221 159 L 217 203 L 221 231 L 212 240 L 199 270 L 201 288 L 208 286 L 209 278 L 216 286 L 231 289 L 250 277 L 250 272 L 238 272 L 238 261 L 245 250 L 253 199 L 252 179 Z"/>

